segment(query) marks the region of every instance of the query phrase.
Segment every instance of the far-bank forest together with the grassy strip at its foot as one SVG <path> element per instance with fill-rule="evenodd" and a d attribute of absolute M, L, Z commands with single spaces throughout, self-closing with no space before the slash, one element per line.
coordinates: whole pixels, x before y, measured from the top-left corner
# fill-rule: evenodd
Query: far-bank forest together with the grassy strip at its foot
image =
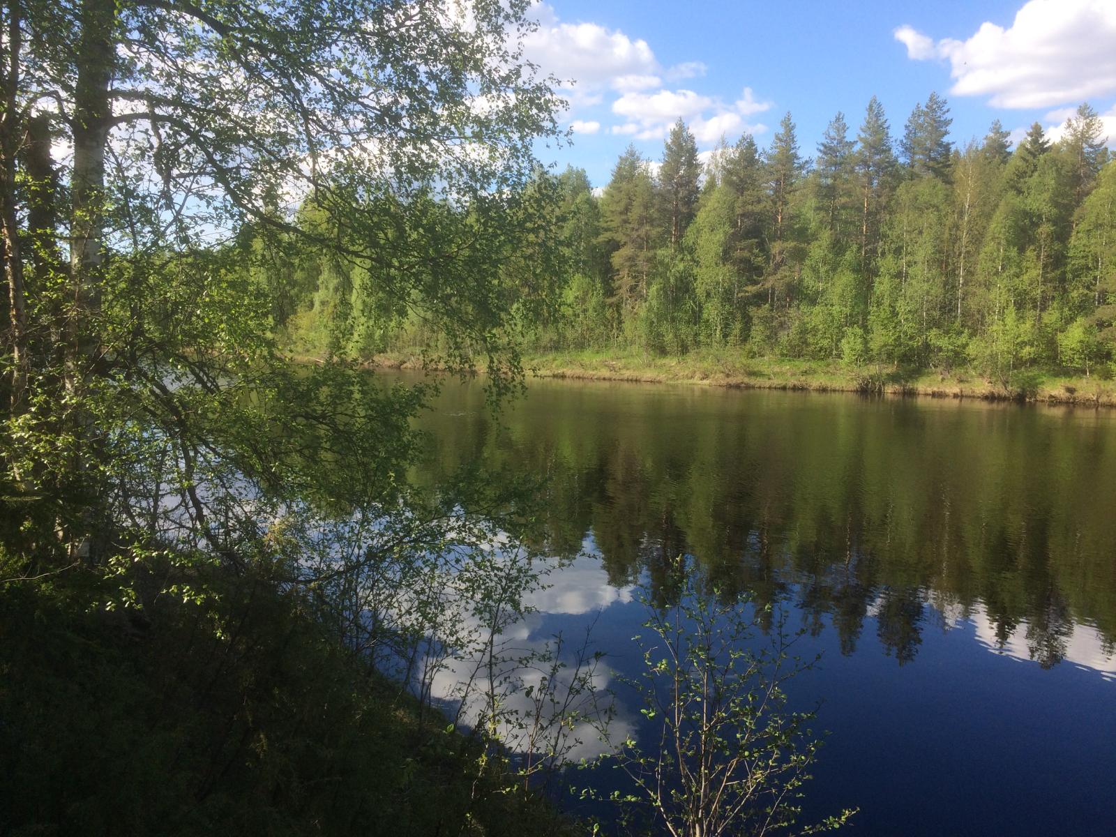
<path fill-rule="evenodd" d="M 1061 137 L 1036 124 L 1013 148 L 999 123 L 968 143 L 951 123 L 931 94 L 896 142 L 873 98 L 814 158 L 788 113 L 767 150 L 744 135 L 703 163 L 680 119 L 657 163 L 629 147 L 603 190 L 540 172 L 549 220 L 498 266 L 498 334 L 545 377 L 1116 405 L 1103 122 L 1083 103 Z M 360 291 L 363 270 L 314 253 L 271 270 L 278 345 L 493 363 Z"/>

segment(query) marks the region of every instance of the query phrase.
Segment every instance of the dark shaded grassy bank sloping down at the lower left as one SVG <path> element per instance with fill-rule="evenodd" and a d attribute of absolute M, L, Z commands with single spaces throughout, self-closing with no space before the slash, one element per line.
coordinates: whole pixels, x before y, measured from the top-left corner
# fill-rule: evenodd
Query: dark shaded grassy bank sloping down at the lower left
<path fill-rule="evenodd" d="M 308 597 L 206 580 L 142 609 L 87 606 L 108 588 L 77 570 L 3 587 L 0 834 L 574 833 Z"/>

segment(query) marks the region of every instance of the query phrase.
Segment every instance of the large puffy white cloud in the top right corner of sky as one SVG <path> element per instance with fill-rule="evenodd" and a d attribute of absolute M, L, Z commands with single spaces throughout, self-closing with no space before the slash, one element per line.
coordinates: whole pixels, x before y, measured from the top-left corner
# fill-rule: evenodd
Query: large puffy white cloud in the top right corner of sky
<path fill-rule="evenodd" d="M 984 22 L 968 40 L 936 44 L 910 26 L 894 32 L 907 56 L 950 62 L 958 96 L 997 107 L 1052 107 L 1116 93 L 1116 2 L 1030 0 L 1007 29 Z"/>

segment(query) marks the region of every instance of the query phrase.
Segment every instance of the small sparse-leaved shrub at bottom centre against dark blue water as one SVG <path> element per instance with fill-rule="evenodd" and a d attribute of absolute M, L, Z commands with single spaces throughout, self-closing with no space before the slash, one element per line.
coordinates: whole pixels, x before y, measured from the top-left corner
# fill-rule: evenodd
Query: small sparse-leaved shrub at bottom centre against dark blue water
<path fill-rule="evenodd" d="M 809 728 L 816 713 L 790 710 L 785 686 L 812 663 L 791 656 L 785 616 L 773 617 L 764 644 L 769 609 L 705 589 L 708 579 L 685 562 L 672 581 L 671 604 L 646 603 L 647 634 L 635 637 L 644 671 L 628 684 L 643 698 L 652 747 L 633 737 L 614 741 L 604 730 L 615 752 L 603 759 L 632 782 L 612 799 L 639 828 L 676 837 L 790 829 L 819 742 Z M 850 816 L 799 833 L 829 830 Z"/>

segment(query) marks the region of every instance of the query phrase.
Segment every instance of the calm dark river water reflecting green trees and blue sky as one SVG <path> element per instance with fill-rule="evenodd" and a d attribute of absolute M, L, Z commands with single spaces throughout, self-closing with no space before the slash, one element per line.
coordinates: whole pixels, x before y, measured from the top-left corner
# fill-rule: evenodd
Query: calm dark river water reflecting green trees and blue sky
<path fill-rule="evenodd" d="M 632 586 L 689 555 L 824 653 L 792 683 L 831 731 L 808 814 L 1116 834 L 1116 412 L 536 381 L 501 423 L 446 384 L 423 478 L 547 478 L 546 547 L 583 555 L 528 639 L 596 618 L 634 672 Z"/>

